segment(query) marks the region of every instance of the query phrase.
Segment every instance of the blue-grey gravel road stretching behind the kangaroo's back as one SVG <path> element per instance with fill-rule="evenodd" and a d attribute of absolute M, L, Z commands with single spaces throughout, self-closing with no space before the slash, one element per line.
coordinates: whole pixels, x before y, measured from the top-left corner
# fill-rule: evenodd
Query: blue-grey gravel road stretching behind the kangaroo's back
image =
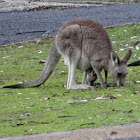
<path fill-rule="evenodd" d="M 138 23 L 140 4 L 0 12 L 0 45 L 54 36 L 65 21 L 76 18 L 96 20 L 103 26 Z"/>

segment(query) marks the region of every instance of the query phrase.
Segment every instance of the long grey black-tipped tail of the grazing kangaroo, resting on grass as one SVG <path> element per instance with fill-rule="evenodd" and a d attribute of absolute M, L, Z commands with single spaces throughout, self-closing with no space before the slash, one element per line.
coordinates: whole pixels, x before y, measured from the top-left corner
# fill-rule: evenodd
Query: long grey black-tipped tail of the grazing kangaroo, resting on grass
<path fill-rule="evenodd" d="M 49 78 L 49 76 L 51 75 L 51 73 L 55 69 L 56 64 L 58 63 L 60 56 L 61 55 L 59 54 L 59 52 L 56 48 L 55 41 L 53 41 L 52 48 L 51 48 L 50 53 L 48 55 L 48 58 L 47 58 L 47 61 L 45 63 L 45 66 L 43 68 L 43 71 L 37 80 L 31 81 L 31 82 L 25 82 L 22 84 L 5 86 L 3 88 L 39 87 Z"/>

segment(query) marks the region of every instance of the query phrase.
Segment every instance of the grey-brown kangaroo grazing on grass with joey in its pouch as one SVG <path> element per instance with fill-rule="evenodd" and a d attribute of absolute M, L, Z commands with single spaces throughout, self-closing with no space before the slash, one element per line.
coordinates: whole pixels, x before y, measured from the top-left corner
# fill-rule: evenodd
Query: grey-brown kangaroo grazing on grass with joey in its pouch
<path fill-rule="evenodd" d="M 127 61 L 131 57 L 129 50 L 122 59 L 114 53 L 106 30 L 96 21 L 89 19 L 71 20 L 62 25 L 56 35 L 46 64 L 40 77 L 32 82 L 5 86 L 4 88 L 27 88 L 42 85 L 53 72 L 60 57 L 68 66 L 67 89 L 87 89 L 89 82 L 97 77 L 101 86 L 107 84 L 108 72 L 118 86 L 125 84 Z M 76 85 L 76 69 L 83 72 L 81 85 Z M 105 80 L 100 71 L 104 69 Z"/>

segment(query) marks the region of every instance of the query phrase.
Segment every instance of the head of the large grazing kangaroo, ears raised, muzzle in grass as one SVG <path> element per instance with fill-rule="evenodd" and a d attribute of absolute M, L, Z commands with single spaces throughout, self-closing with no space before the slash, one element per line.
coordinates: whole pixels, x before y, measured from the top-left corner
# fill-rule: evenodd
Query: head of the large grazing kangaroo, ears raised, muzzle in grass
<path fill-rule="evenodd" d="M 118 86 L 124 86 L 125 77 L 128 73 L 127 61 L 130 59 L 132 51 L 129 50 L 122 59 L 120 59 L 114 52 L 111 52 L 112 70 L 111 75 Z"/>

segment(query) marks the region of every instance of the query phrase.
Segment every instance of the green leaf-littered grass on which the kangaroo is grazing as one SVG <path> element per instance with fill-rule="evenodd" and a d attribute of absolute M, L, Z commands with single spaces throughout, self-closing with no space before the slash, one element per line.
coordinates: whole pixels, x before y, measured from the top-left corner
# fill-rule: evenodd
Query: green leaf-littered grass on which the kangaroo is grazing
<path fill-rule="evenodd" d="M 133 56 L 129 62 L 140 59 L 140 44 L 134 46 L 140 38 L 140 24 L 107 32 L 119 56 L 131 48 Z M 2 89 L 36 79 L 43 68 L 39 62 L 46 59 L 52 40 L 0 47 L 0 137 L 140 122 L 140 67 L 129 68 L 125 87 L 66 90 L 67 67 L 61 60 L 45 85 Z M 78 83 L 82 75 L 78 71 Z M 97 97 L 106 99 L 96 100 Z"/>

